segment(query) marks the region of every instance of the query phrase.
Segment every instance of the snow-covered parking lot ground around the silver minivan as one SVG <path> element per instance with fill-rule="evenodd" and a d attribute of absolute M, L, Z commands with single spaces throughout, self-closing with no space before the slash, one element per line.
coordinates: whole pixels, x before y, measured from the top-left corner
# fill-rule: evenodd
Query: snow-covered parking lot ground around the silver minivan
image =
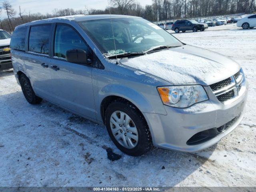
<path fill-rule="evenodd" d="M 28 104 L 9 70 L 0 73 L 0 186 L 256 186 L 256 28 L 230 24 L 174 36 L 243 67 L 247 112 L 232 133 L 197 153 L 154 148 L 127 156 L 103 126 L 46 101 Z M 122 157 L 110 161 L 106 148 Z"/>

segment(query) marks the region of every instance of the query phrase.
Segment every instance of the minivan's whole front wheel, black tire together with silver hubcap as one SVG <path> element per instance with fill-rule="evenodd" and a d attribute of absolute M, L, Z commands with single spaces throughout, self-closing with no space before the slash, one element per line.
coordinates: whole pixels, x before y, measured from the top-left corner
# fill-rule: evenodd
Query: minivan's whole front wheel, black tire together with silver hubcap
<path fill-rule="evenodd" d="M 105 122 L 110 138 L 122 152 L 141 156 L 150 150 L 152 138 L 148 124 L 128 101 L 118 99 L 109 104 Z"/>

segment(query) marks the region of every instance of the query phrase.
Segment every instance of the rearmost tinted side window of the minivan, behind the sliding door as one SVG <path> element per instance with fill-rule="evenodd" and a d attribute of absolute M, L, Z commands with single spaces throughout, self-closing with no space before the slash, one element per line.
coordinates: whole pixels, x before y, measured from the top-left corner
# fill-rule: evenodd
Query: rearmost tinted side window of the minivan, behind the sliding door
<path fill-rule="evenodd" d="M 11 49 L 25 51 L 26 32 L 26 27 L 19 27 L 13 32 L 10 44 Z"/>

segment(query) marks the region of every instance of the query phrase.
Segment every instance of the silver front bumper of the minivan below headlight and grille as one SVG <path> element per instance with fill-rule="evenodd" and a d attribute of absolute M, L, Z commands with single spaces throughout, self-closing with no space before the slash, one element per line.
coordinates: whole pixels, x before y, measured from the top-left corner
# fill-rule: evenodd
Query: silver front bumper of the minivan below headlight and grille
<path fill-rule="evenodd" d="M 183 152 L 203 150 L 216 144 L 238 126 L 245 112 L 248 93 L 246 81 L 242 82 L 242 89 L 236 100 L 227 105 L 222 104 L 216 98 L 209 86 L 205 89 L 209 96 L 209 100 L 206 102 L 186 109 L 164 106 L 167 115 L 144 113 L 154 146 Z M 219 128 L 238 116 L 239 118 L 228 129 L 210 140 L 200 144 L 187 144 L 188 140 L 198 132 Z"/>

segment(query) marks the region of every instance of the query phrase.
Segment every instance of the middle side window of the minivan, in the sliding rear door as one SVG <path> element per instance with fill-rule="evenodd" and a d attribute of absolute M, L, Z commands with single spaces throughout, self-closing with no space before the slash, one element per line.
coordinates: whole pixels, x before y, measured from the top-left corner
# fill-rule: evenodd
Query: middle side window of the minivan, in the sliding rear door
<path fill-rule="evenodd" d="M 33 26 L 30 28 L 28 50 L 49 55 L 51 25 Z"/>

